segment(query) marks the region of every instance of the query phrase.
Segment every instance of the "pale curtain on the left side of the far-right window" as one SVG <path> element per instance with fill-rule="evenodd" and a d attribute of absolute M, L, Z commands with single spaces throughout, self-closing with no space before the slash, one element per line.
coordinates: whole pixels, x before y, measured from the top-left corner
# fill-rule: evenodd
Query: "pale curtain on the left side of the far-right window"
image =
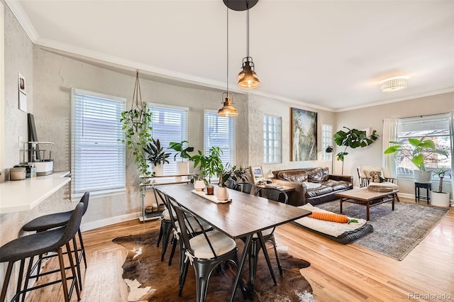
<path fill-rule="evenodd" d="M 383 120 L 383 135 L 382 135 L 382 153 L 387 150 L 397 140 L 397 118 L 385 118 Z M 394 154 L 382 155 L 383 174 L 385 177 L 396 178 L 396 161 Z"/>

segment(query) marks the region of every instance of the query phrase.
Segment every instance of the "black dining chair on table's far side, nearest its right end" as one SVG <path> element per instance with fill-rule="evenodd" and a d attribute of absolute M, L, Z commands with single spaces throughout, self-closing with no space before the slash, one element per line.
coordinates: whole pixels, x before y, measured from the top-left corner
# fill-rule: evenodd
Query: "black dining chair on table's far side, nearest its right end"
<path fill-rule="evenodd" d="M 282 190 L 274 189 L 274 188 L 260 188 L 255 192 L 255 196 L 265 197 L 271 199 L 273 201 L 279 201 L 282 203 L 287 204 L 289 201 L 289 196 Z M 267 228 L 266 230 L 262 230 L 263 240 L 265 242 L 271 242 L 272 247 L 275 250 L 276 255 L 276 262 L 277 267 L 279 268 L 279 274 L 282 276 L 282 267 L 279 262 L 279 257 L 277 256 L 277 248 L 276 248 L 276 240 L 275 240 L 275 229 L 276 228 Z M 250 265 L 256 265 L 257 256 L 259 252 L 260 245 L 258 244 L 258 235 L 253 235 L 253 241 L 251 242 L 251 252 L 249 253 L 249 261 Z M 252 277 L 252 276 L 251 276 Z"/>

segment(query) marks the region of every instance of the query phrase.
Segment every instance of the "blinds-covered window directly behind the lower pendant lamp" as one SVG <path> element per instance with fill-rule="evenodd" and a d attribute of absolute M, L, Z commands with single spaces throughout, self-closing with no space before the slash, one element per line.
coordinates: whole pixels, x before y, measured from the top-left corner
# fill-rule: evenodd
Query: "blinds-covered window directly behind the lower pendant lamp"
<path fill-rule="evenodd" d="M 224 167 L 227 163 L 235 164 L 235 118 L 218 116 L 217 111 L 206 110 L 204 133 L 205 153 L 213 146 L 220 147 Z"/>

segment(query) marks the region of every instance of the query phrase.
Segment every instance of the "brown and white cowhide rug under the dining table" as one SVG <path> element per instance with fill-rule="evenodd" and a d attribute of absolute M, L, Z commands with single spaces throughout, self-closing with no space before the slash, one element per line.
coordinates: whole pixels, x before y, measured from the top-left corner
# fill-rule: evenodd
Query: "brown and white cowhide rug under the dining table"
<path fill-rule="evenodd" d="M 178 296 L 178 248 L 169 267 L 167 261 L 170 248 L 167 250 L 165 261 L 160 261 L 161 245 L 156 247 L 157 231 L 118 237 L 113 242 L 123 245 L 128 256 L 123 264 L 123 279 L 130 288 L 128 301 L 196 301 L 195 274 L 192 266 L 189 267 L 187 281 L 184 284 L 182 296 Z M 243 250 L 243 242 L 237 241 L 238 250 Z M 309 262 L 279 252 L 279 261 L 283 275 L 279 275 L 274 251 L 269 250 L 272 267 L 275 269 L 277 286 L 273 286 L 270 271 L 260 252 L 258 271 L 255 281 L 255 292 L 246 301 L 314 301 L 312 288 L 300 269 L 309 267 Z M 243 267 L 243 279 L 248 280 L 248 261 Z M 231 296 L 236 269 L 222 267 L 221 271 L 214 271 L 209 280 L 209 289 L 206 301 L 228 301 Z M 237 289 L 234 301 L 244 301 L 243 293 Z"/>

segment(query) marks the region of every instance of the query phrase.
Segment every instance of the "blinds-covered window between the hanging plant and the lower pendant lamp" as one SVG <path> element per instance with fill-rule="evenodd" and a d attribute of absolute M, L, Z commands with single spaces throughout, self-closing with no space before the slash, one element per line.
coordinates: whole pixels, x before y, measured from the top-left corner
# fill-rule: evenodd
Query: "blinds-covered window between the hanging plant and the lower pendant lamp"
<path fill-rule="evenodd" d="M 152 112 L 151 130 L 153 138 L 159 139 L 165 152 L 171 153 L 169 163 L 164 165 L 164 175 L 177 174 L 177 163 L 175 162 L 175 150 L 167 150 L 170 142 L 181 142 L 187 140 L 187 113 L 188 108 L 166 106 L 161 104 L 150 104 Z M 181 160 L 177 157 L 177 160 Z"/>

